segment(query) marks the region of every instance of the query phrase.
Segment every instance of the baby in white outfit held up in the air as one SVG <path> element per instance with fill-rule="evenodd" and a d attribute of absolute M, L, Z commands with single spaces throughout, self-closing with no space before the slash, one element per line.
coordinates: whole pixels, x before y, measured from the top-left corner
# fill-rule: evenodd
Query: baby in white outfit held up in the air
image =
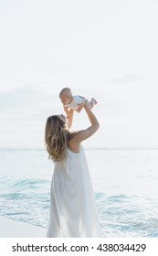
<path fill-rule="evenodd" d="M 60 101 L 63 103 L 65 112 L 68 112 L 68 109 L 73 109 L 77 112 L 80 112 L 86 102 L 90 110 L 97 104 L 97 101 L 94 98 L 91 98 L 91 101 L 88 101 L 85 97 L 79 95 L 72 95 L 72 92 L 68 87 L 62 89 L 59 93 Z"/>

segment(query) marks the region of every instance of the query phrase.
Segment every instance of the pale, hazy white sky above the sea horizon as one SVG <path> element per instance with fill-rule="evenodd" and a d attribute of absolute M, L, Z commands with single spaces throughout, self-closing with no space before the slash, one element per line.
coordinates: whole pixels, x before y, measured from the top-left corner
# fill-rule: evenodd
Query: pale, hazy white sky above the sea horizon
<path fill-rule="evenodd" d="M 0 146 L 43 147 L 58 93 L 97 99 L 87 147 L 158 148 L 156 0 L 0 1 Z M 89 125 L 75 112 L 73 129 Z"/>

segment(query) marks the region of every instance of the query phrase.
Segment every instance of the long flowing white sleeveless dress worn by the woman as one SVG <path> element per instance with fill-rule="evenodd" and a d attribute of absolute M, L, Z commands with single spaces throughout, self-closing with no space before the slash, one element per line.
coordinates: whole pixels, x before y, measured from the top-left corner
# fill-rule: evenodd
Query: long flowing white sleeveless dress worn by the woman
<path fill-rule="evenodd" d="M 89 169 L 80 145 L 78 154 L 67 148 L 56 162 L 50 190 L 47 238 L 101 237 Z"/>

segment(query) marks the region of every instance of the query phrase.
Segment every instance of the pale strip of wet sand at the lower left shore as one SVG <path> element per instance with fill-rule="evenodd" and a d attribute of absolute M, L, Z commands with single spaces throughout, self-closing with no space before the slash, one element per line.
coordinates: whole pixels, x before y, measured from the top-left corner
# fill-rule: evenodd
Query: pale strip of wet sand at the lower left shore
<path fill-rule="evenodd" d="M 47 229 L 0 216 L 0 238 L 46 238 Z"/>

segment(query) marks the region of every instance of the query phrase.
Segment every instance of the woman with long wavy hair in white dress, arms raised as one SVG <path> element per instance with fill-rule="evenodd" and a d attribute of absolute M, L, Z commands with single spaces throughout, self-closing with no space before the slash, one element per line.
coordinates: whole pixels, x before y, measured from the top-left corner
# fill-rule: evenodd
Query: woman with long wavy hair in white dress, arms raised
<path fill-rule="evenodd" d="M 55 162 L 50 192 L 47 237 L 101 237 L 100 221 L 81 142 L 96 133 L 100 124 L 85 103 L 90 127 L 70 132 L 73 111 L 47 118 L 45 142 L 49 158 Z"/>

